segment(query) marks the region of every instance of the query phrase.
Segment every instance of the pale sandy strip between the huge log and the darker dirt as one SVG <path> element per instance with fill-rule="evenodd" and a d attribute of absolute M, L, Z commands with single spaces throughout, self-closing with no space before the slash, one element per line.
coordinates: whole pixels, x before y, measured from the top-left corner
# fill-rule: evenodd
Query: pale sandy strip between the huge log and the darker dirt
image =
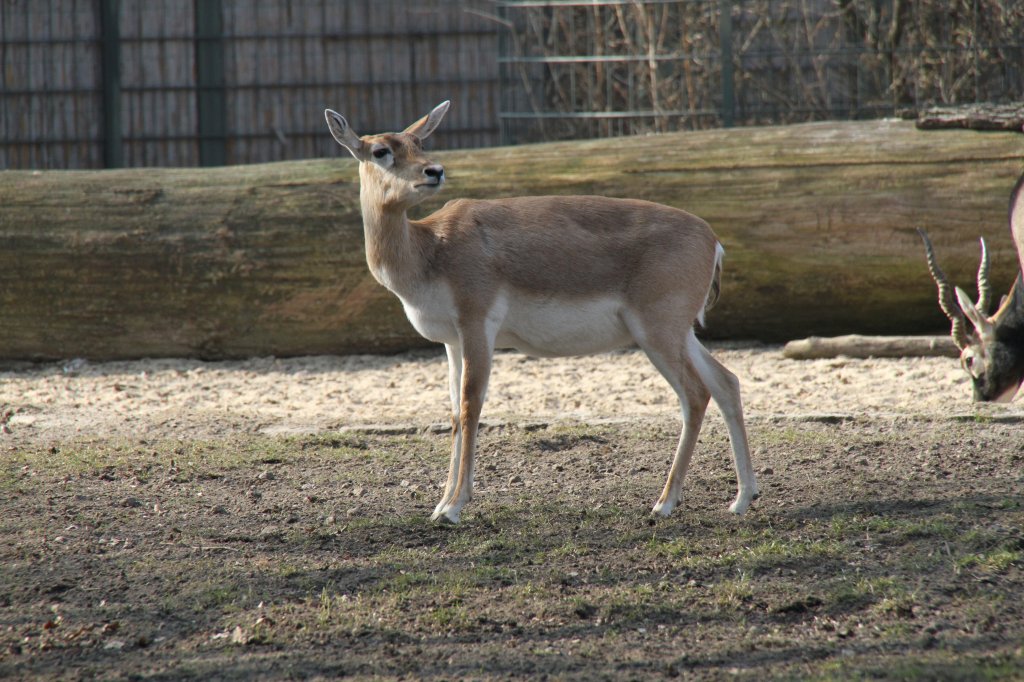
<path fill-rule="evenodd" d="M 1024 417 L 1020 397 L 975 404 L 954 359 L 790 360 L 778 346 L 712 345 L 739 377 L 749 419 L 796 415 Z M 203 363 L 152 359 L 0 372 L 0 442 L 72 437 L 211 437 L 446 423 L 442 352 Z M 665 380 L 638 351 L 496 357 L 484 420 L 665 417 Z M 717 419 L 717 411 L 710 413 Z"/>

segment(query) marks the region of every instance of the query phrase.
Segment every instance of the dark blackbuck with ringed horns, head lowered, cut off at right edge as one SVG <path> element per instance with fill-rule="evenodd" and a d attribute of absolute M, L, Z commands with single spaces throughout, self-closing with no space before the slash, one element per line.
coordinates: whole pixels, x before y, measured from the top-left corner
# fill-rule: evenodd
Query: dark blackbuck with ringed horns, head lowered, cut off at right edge
<path fill-rule="evenodd" d="M 1010 230 L 1024 268 L 1024 175 L 1010 195 Z M 1024 383 L 1024 272 L 1018 272 L 1010 294 L 1004 297 L 995 314 L 989 316 L 991 287 L 985 240 L 981 240 L 978 302 L 972 302 L 959 287 L 955 288 L 954 301 L 949 281 L 935 262 L 931 240 L 925 230 L 919 227 L 918 231 L 925 241 L 928 269 L 939 288 L 939 307 L 952 323 L 951 334 L 961 349 L 961 365 L 971 375 L 974 399 L 1009 402 Z M 965 316 L 974 327 L 970 335 L 965 330 Z"/>

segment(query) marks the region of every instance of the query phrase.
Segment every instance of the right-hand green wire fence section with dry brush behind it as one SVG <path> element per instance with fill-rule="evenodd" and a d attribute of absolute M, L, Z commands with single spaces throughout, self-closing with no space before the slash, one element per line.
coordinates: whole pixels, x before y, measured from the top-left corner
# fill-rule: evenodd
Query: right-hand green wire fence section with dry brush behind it
<path fill-rule="evenodd" d="M 506 140 L 1024 98 L 1024 0 L 508 0 Z"/>

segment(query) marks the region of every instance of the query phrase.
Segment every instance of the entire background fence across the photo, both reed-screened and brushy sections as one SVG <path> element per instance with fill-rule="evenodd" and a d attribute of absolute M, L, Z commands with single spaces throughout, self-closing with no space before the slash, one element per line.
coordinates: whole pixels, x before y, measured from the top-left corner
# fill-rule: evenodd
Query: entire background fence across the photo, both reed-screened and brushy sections
<path fill-rule="evenodd" d="M 1024 0 L 2 0 L 0 168 L 437 146 L 1024 99 Z"/>

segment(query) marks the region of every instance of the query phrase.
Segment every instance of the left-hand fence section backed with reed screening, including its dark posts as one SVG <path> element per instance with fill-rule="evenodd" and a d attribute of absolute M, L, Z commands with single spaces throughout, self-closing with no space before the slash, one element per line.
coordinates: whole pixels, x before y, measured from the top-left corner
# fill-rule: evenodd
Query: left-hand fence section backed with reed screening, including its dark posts
<path fill-rule="evenodd" d="M 256 163 L 335 154 L 454 99 L 444 147 L 499 142 L 484 0 L 3 0 L 0 168 Z M 483 14 L 483 15 L 481 15 Z"/>

